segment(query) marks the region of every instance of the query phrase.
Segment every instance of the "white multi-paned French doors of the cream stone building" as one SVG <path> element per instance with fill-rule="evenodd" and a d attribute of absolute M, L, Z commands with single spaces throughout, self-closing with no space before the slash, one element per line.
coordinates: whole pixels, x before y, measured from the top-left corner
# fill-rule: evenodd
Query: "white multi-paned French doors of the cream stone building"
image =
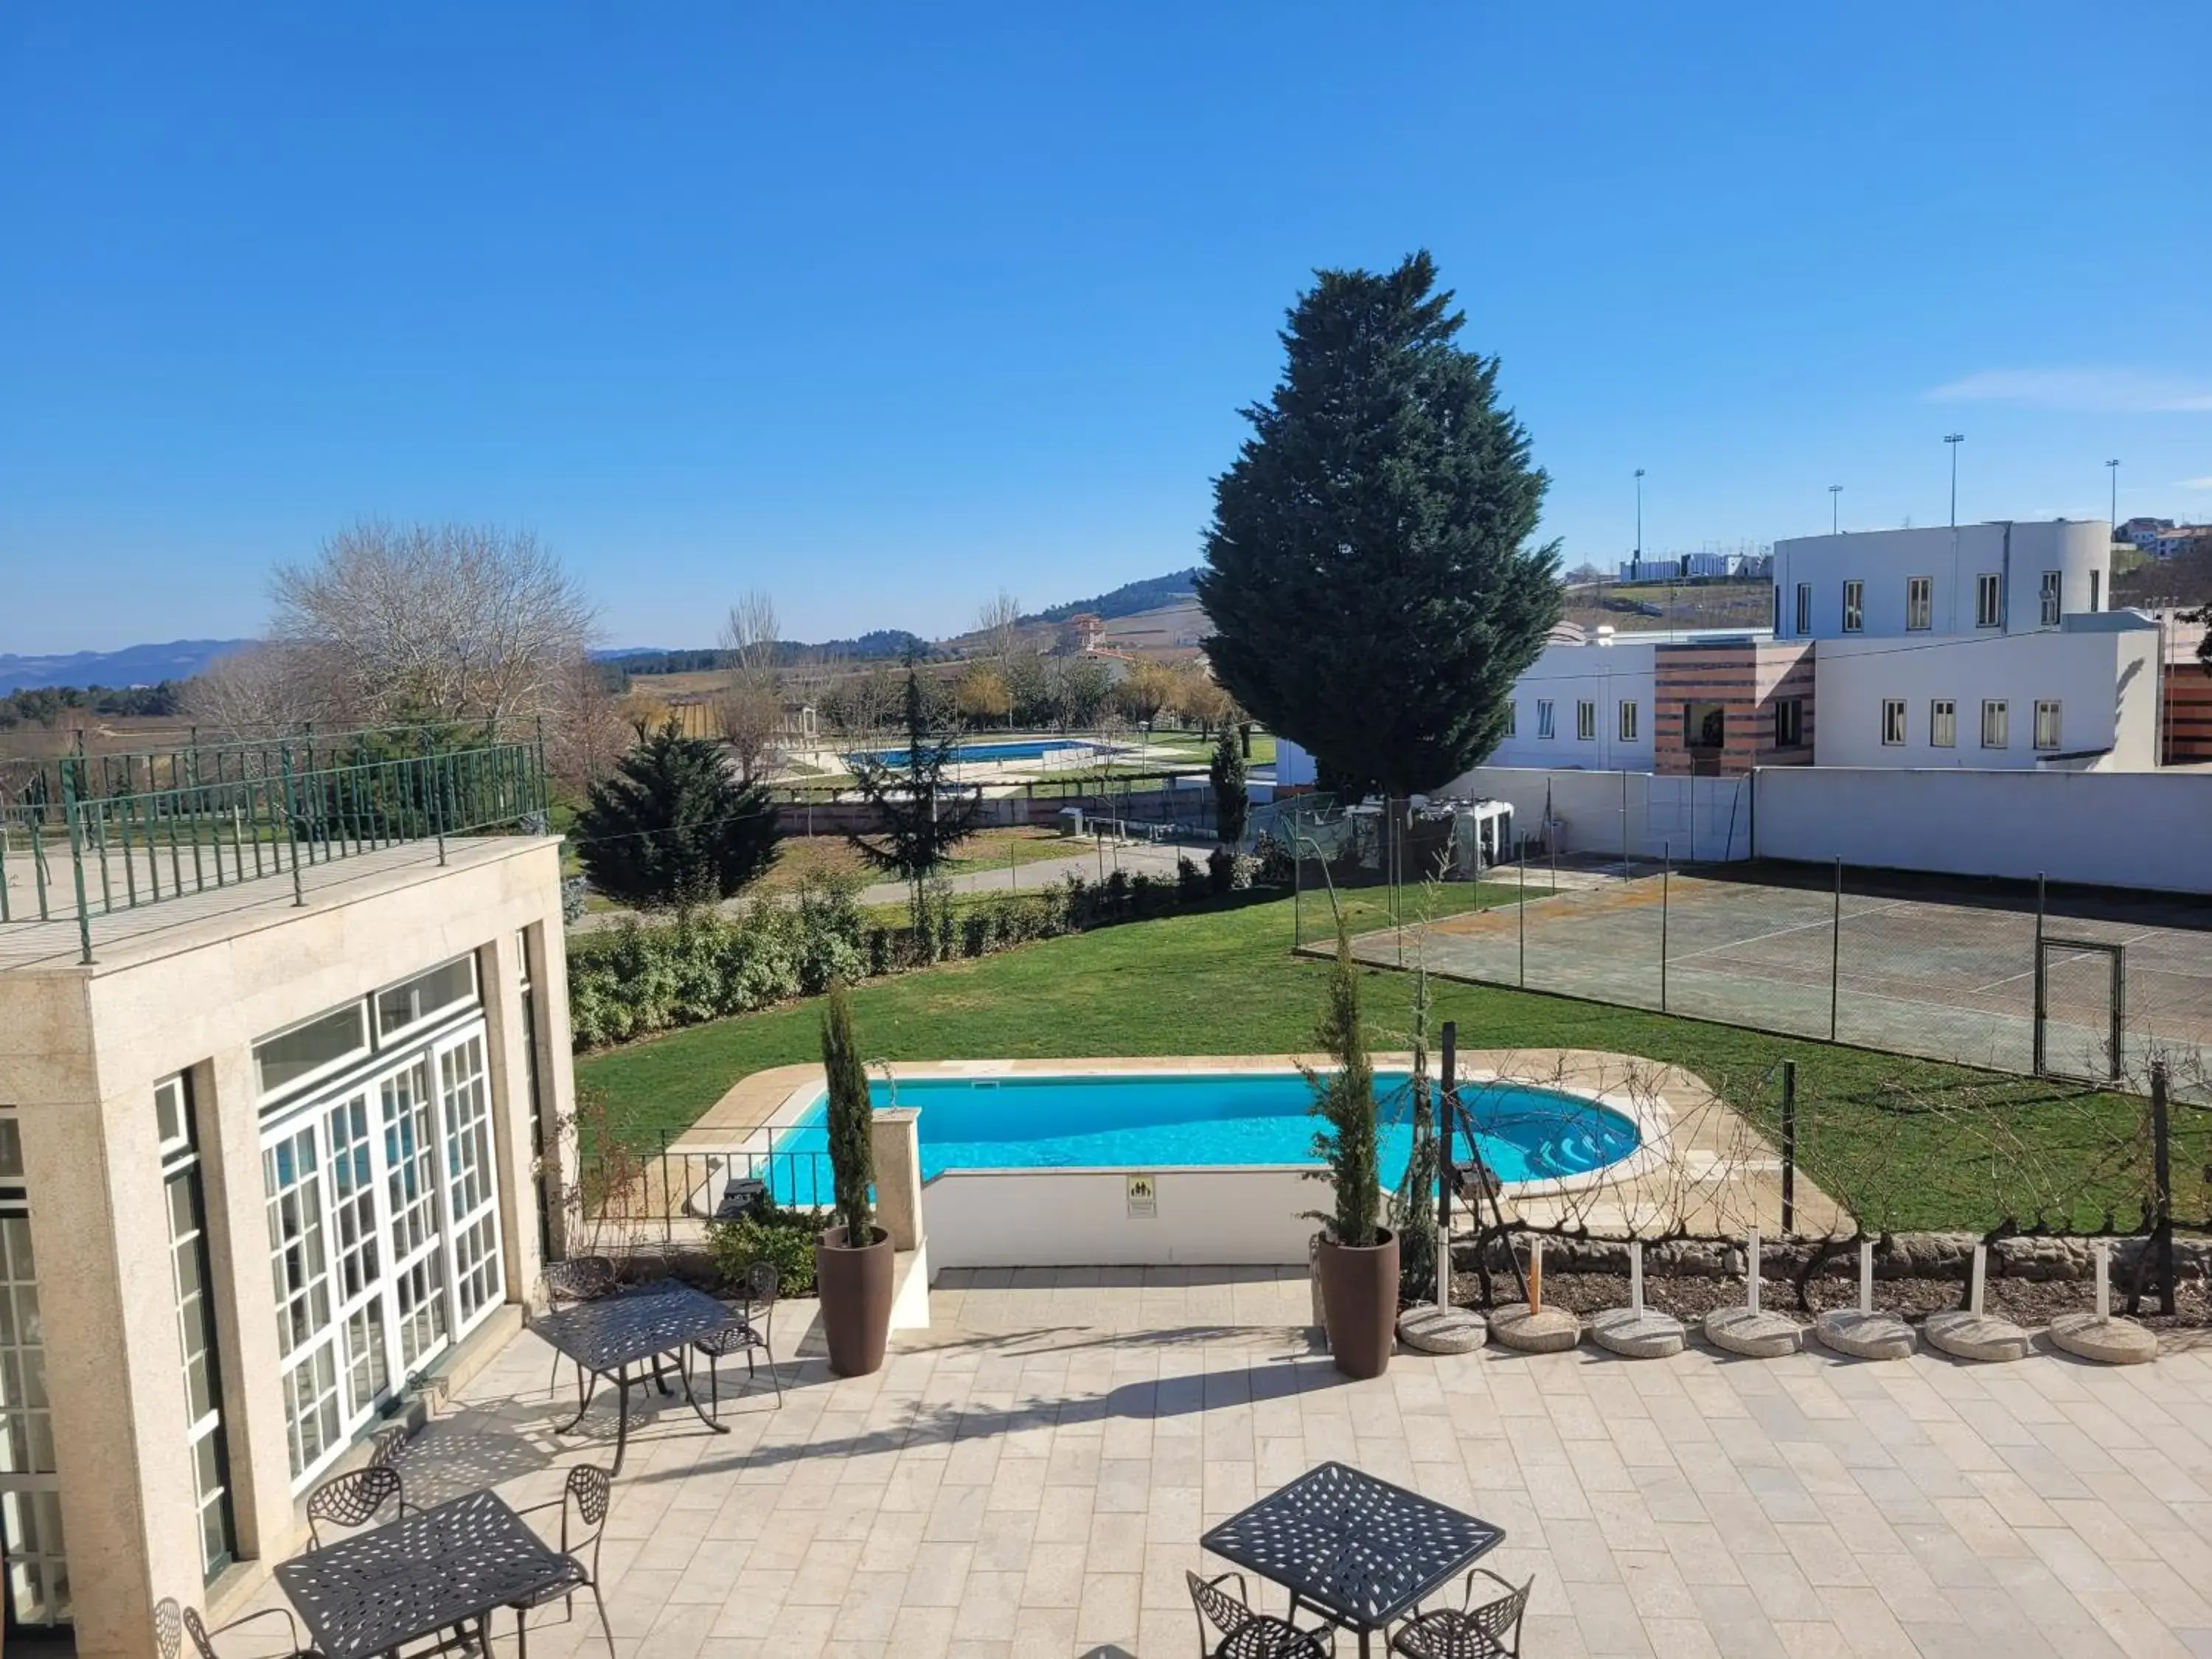
<path fill-rule="evenodd" d="M 314 1480 L 504 1292 L 484 1026 L 263 1130 L 292 1480 Z"/>

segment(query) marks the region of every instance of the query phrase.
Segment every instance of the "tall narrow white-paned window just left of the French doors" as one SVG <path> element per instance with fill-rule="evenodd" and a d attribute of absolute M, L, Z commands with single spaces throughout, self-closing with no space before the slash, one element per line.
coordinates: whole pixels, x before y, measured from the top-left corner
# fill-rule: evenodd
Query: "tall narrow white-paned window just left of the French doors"
<path fill-rule="evenodd" d="M 199 1571 L 212 1582 L 237 1557 L 239 1542 L 230 1509 L 230 1442 L 223 1438 L 223 1374 L 208 1272 L 208 1203 L 199 1181 L 190 1077 L 177 1075 L 155 1084 L 153 1097 L 168 1197 L 168 1281 L 177 1296 L 177 1343 L 184 1363 L 184 1444 L 192 1458 L 192 1491 L 199 1504 Z"/>

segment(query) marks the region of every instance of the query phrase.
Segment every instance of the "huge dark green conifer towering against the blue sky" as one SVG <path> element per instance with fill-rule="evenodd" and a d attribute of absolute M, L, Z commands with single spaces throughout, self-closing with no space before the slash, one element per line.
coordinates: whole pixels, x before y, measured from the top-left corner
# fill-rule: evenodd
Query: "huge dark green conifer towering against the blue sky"
<path fill-rule="evenodd" d="M 1436 790 L 1504 737 L 1515 677 L 1559 619 L 1548 478 L 1498 405 L 1498 358 L 1411 254 L 1323 270 L 1287 363 L 1214 480 L 1199 599 L 1214 677 L 1325 776 Z"/>

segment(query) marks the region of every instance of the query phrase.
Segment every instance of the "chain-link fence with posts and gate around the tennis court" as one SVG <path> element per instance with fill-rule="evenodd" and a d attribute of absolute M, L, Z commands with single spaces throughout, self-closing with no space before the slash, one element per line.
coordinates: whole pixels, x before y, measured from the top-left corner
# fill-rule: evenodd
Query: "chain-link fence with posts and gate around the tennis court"
<path fill-rule="evenodd" d="M 1564 852 L 1489 803 L 1285 803 L 1296 945 L 2028 1075 L 2154 1057 L 2203 1097 L 2212 905 L 1783 863 Z"/>

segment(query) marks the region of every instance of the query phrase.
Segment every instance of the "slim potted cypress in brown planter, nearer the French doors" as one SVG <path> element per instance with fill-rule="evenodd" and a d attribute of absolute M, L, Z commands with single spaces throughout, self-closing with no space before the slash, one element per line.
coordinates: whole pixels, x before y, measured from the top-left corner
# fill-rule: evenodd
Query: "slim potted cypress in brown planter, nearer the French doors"
<path fill-rule="evenodd" d="M 867 1376 L 883 1367 L 883 1347 L 891 1336 L 891 1234 L 876 1225 L 867 1201 L 876 1181 L 874 1115 L 843 984 L 830 987 L 823 1011 L 823 1073 L 830 1077 L 825 1115 L 836 1225 L 823 1230 L 814 1245 L 814 1283 L 823 1298 L 830 1369 Z"/>

